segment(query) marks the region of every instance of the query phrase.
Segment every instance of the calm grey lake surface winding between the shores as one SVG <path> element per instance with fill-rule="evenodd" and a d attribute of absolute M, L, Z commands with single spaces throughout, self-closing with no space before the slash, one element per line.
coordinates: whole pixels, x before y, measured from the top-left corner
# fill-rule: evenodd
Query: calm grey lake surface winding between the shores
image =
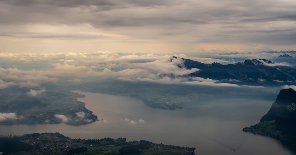
<path fill-rule="evenodd" d="M 183 109 L 152 109 L 126 96 L 73 91 L 86 95 L 86 103 L 100 121 L 82 126 L 65 124 L 2 125 L 1 135 L 59 132 L 71 138 L 119 138 L 147 140 L 195 147 L 196 154 L 295 154 L 289 145 L 270 137 L 242 132 L 255 125 L 270 109 L 271 99 L 207 97 L 185 104 Z"/>

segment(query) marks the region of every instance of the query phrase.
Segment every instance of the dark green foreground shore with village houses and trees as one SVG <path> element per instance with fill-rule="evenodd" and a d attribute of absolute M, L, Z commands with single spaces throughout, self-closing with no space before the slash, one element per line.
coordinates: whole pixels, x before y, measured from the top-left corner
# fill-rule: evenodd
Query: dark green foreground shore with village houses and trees
<path fill-rule="evenodd" d="M 195 155 L 195 148 L 150 141 L 130 141 L 126 138 L 71 139 L 60 133 L 30 133 L 25 135 L 0 135 L 0 154 L 161 154 L 161 155 Z"/>

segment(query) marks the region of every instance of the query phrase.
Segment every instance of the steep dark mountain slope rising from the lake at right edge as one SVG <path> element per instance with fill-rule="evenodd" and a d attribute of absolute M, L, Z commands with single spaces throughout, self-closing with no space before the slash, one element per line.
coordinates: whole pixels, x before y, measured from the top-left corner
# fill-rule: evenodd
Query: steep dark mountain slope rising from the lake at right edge
<path fill-rule="evenodd" d="M 296 145 L 296 91 L 282 89 L 260 122 L 243 131 L 271 136 Z"/>

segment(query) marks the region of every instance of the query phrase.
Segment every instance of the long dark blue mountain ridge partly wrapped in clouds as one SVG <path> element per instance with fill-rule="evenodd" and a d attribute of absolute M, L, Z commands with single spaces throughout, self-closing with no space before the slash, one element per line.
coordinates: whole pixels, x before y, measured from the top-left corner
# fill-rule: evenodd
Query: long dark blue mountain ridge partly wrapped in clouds
<path fill-rule="evenodd" d="M 173 57 L 177 59 L 177 57 Z M 183 59 L 187 69 L 198 68 L 189 77 L 202 77 L 219 80 L 223 83 L 239 85 L 292 85 L 296 80 L 296 68 L 276 66 L 266 59 L 248 59 L 235 64 L 204 64 L 190 59 Z"/>

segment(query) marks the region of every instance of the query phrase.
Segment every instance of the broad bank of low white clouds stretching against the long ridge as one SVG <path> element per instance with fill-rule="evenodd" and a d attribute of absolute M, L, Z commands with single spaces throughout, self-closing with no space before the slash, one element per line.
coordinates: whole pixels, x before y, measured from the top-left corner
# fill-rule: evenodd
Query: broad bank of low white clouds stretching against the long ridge
<path fill-rule="evenodd" d="M 265 54 L 265 53 L 261 53 Z M 232 54 L 238 56 L 240 54 Z M 228 55 L 228 56 L 232 56 Z M 250 54 L 245 54 L 250 55 Z M 182 58 L 193 59 L 203 63 L 225 62 L 213 58 L 197 58 L 184 54 L 175 55 Z M 225 55 L 224 55 L 225 56 Z M 124 55 L 113 52 L 96 52 L 91 54 L 72 53 L 68 54 L 9 54 L 1 53 L 0 59 L 10 63 L 19 64 L 22 60 L 26 64 L 31 64 L 31 70 L 20 70 L 17 68 L 0 67 L 0 89 L 5 89 L 13 85 L 33 88 L 42 83 L 67 81 L 71 83 L 87 82 L 98 79 L 117 79 L 125 81 L 145 81 L 162 84 L 194 84 L 211 86 L 231 86 L 235 79 L 212 80 L 200 77 L 187 77 L 186 75 L 198 72 L 198 68 L 186 69 L 182 59 L 175 59 L 169 55 Z M 264 65 L 277 66 L 288 65 L 285 63 Z M 26 65 L 25 64 L 25 65 Z M 39 65 L 36 65 L 39 64 Z M 42 65 L 40 65 L 42 64 Z M 35 70 L 35 67 L 46 66 L 43 70 Z M 259 79 L 260 80 L 260 79 Z M 229 83 L 228 83 L 229 82 Z M 263 82 L 263 81 L 262 81 Z M 41 90 L 31 90 L 28 94 L 37 96 Z"/>

